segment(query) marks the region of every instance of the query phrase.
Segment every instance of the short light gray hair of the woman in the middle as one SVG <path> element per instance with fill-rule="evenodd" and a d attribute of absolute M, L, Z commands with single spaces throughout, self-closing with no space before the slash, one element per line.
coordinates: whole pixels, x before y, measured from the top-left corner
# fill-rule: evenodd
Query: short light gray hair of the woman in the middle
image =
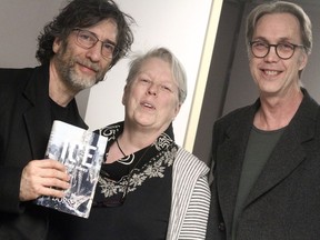
<path fill-rule="evenodd" d="M 143 63 L 150 58 L 159 58 L 171 66 L 171 72 L 173 80 L 178 84 L 179 89 L 179 103 L 182 104 L 187 98 L 187 76 L 183 66 L 176 58 L 176 56 L 166 48 L 156 48 L 149 50 L 144 54 L 136 56 L 130 62 L 129 74 L 127 77 L 127 84 L 130 86 L 133 79 L 139 73 Z"/>

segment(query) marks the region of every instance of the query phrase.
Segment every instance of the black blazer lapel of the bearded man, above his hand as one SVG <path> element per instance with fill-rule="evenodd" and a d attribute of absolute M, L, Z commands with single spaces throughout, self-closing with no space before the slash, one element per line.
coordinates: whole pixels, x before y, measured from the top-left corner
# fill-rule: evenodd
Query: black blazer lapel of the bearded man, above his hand
<path fill-rule="evenodd" d="M 33 159 L 42 159 L 51 130 L 49 66 L 34 69 L 23 96 L 30 104 L 23 117 L 31 153 Z"/>

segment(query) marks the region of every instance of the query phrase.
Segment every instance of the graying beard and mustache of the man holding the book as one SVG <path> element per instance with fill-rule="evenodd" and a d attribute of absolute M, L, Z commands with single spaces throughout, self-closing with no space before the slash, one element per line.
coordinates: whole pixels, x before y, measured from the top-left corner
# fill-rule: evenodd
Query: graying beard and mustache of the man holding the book
<path fill-rule="evenodd" d="M 104 79 L 108 68 L 101 69 L 98 63 L 89 59 L 81 59 L 79 56 L 72 54 L 72 48 L 68 48 L 68 43 L 62 43 L 62 48 L 56 53 L 56 68 L 59 77 L 68 88 L 72 91 L 81 91 L 91 88 Z M 77 71 L 76 66 L 81 64 L 92 69 L 96 74 L 88 76 Z"/>

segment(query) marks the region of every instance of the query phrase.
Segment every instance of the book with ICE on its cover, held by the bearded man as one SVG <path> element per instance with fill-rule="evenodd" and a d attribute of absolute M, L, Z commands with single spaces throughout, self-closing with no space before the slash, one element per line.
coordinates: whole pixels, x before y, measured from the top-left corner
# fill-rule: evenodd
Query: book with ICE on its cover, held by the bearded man
<path fill-rule="evenodd" d="M 53 121 L 46 158 L 62 162 L 70 174 L 63 198 L 41 196 L 39 206 L 89 218 L 108 138 L 62 121 Z"/>

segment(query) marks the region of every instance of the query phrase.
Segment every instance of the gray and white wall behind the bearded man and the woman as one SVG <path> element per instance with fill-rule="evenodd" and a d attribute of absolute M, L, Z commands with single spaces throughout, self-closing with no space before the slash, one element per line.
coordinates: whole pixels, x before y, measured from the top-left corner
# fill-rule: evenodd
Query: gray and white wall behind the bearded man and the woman
<path fill-rule="evenodd" d="M 137 21 L 133 27 L 134 52 L 163 46 L 171 49 L 186 68 L 188 97 L 174 121 L 176 140 L 182 146 L 213 0 L 114 1 Z M 66 0 L 1 0 L 0 68 L 37 66 L 37 37 L 64 3 Z M 121 97 L 127 73 L 128 59 L 124 59 L 107 74 L 106 81 L 77 98 L 90 129 L 123 119 Z"/>

